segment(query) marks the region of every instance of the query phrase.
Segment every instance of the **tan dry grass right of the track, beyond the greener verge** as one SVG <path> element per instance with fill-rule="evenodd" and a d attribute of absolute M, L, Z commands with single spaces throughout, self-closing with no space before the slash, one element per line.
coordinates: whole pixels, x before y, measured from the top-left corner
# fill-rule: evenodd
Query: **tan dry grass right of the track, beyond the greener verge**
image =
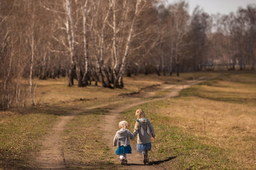
<path fill-rule="evenodd" d="M 196 136 L 206 145 L 222 148 L 238 169 L 256 169 L 256 77 L 235 74 L 192 86 L 182 97 L 155 103 L 150 113 Z"/>

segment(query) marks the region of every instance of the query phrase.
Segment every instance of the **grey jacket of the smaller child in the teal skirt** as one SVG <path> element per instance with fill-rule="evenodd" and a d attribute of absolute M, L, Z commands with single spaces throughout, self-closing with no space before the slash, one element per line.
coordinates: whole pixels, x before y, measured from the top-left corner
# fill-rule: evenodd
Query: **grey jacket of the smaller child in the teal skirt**
<path fill-rule="evenodd" d="M 132 134 L 132 132 L 130 132 L 127 129 L 121 129 L 118 130 L 116 135 L 114 136 L 114 141 L 113 141 L 113 145 L 114 147 L 120 147 L 120 146 L 128 146 L 130 145 L 129 143 L 129 139 L 131 138 L 131 140 L 134 139 L 134 135 Z"/>

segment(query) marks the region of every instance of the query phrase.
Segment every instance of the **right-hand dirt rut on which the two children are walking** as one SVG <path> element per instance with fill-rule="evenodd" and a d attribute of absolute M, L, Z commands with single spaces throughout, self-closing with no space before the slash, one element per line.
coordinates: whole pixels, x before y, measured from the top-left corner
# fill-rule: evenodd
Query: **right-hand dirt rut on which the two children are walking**
<path fill-rule="evenodd" d="M 106 125 L 105 125 L 105 139 L 108 141 L 108 146 L 110 148 L 112 148 L 112 152 L 115 152 L 115 149 L 117 149 L 116 147 L 112 146 L 112 140 L 114 137 L 115 132 L 118 130 L 118 123 L 120 120 L 118 120 L 119 118 L 119 113 L 122 113 L 123 111 L 125 111 L 128 108 L 132 108 L 134 106 L 138 106 L 144 103 L 149 103 L 149 102 L 153 102 L 153 101 L 160 101 L 160 100 L 164 100 L 167 98 L 173 98 L 178 96 L 178 92 L 188 88 L 189 86 L 193 85 L 193 84 L 198 84 L 203 82 L 204 80 L 199 80 L 199 81 L 190 81 L 188 82 L 188 84 L 186 85 L 161 85 L 159 87 L 158 91 L 161 90 L 171 90 L 171 93 L 166 94 L 166 96 L 163 96 L 161 98 L 154 98 L 151 99 L 149 101 L 142 101 L 142 100 L 138 100 L 139 98 L 134 98 L 134 100 L 137 100 L 137 102 L 135 103 L 131 103 L 131 104 L 126 104 L 123 106 L 119 106 L 118 108 L 114 108 L 112 111 L 110 111 L 110 114 L 105 115 L 105 121 L 106 121 Z M 156 93 L 156 91 L 154 92 Z M 154 93 L 148 93 L 148 94 L 144 94 L 144 98 L 146 97 L 150 97 L 150 96 L 154 96 Z M 141 99 L 141 98 L 140 98 Z M 134 111 L 135 112 L 135 111 Z M 127 168 L 129 169 L 161 169 L 158 166 L 149 166 L 149 165 L 144 165 L 142 162 L 142 155 L 139 154 L 138 152 L 136 152 L 136 148 L 132 148 L 132 154 L 127 155 L 127 159 L 128 159 L 128 166 Z M 113 156 L 117 157 L 117 155 Z M 119 159 L 117 157 L 117 161 L 115 162 L 116 164 L 120 164 Z"/>

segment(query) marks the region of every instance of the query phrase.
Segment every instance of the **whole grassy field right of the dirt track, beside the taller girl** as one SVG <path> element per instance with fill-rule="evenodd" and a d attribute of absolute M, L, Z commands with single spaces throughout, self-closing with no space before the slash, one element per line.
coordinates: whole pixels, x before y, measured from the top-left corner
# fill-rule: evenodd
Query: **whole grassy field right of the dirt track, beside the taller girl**
<path fill-rule="evenodd" d="M 255 74 L 226 74 L 123 117 L 133 126 L 137 108 L 146 111 L 156 129 L 151 159 L 164 168 L 256 169 L 255 84 Z"/>

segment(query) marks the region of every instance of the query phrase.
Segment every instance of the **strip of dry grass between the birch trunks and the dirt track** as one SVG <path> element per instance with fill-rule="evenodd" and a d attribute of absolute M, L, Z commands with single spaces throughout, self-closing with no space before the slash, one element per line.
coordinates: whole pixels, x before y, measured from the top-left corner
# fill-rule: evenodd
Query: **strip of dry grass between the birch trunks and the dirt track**
<path fill-rule="evenodd" d="M 157 77 L 155 74 L 137 77 L 124 77 L 124 89 L 107 89 L 102 86 L 78 87 L 77 81 L 73 87 L 68 87 L 65 78 L 39 80 L 36 87 L 36 103 L 40 106 L 96 106 L 102 103 L 120 101 L 120 94 L 139 91 L 146 86 L 155 84 L 183 84 L 188 79 L 198 77 L 216 77 L 220 73 L 186 73 L 180 77 Z M 35 80 L 36 81 L 36 80 Z M 94 84 L 94 82 L 92 82 Z M 80 102 L 86 101 L 86 102 Z M 27 106 L 30 106 L 28 96 Z"/>

